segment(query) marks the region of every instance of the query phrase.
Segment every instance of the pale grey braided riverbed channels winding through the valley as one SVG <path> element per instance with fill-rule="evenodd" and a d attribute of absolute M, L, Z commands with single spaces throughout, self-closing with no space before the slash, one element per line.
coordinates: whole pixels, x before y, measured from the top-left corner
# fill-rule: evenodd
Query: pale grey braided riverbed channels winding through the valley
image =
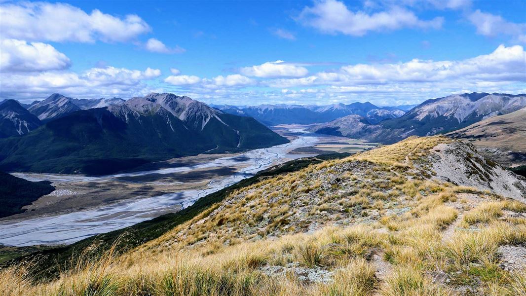
<path fill-rule="evenodd" d="M 70 191 L 55 193 L 57 195 L 56 199 L 59 200 L 59 203 L 65 203 L 66 208 L 69 198 L 60 200 L 61 194 L 83 198 L 83 192 L 74 190 L 93 188 L 96 187 L 97 183 L 102 184 L 100 187 L 105 187 L 111 183 L 124 182 L 126 185 L 138 184 L 138 187 L 146 186 L 146 188 L 154 189 L 145 190 L 150 193 L 149 195 L 140 194 L 141 190 L 137 190 L 127 193 L 125 198 L 114 197 L 113 200 L 110 199 L 107 202 L 97 203 L 97 200 L 94 199 L 95 205 L 86 209 L 73 207 L 57 212 L 44 213 L 43 215 L 27 216 L 29 214 L 26 214 L 25 217 L 17 215 L 8 217 L 0 220 L 0 244 L 18 247 L 36 244 L 69 244 L 98 233 L 128 227 L 167 212 L 176 212 L 181 208 L 192 205 L 197 199 L 253 176 L 258 171 L 292 159 L 312 156 L 309 154 L 290 153 L 297 148 L 312 147 L 318 142 L 334 139 L 334 137 L 330 138 L 304 132 L 301 127 L 297 126 L 280 127 L 280 129 L 287 130 L 291 139 L 288 144 L 250 150 L 225 157 L 203 157 L 190 165 L 161 166 L 153 170 L 125 172 L 102 177 L 15 173 L 14 175 L 18 177 L 32 181 L 49 180 L 54 185 L 64 182 L 73 184 L 73 186 L 78 185 L 80 189 L 74 189 L 70 185 L 70 189 L 59 189 Z M 200 176 L 207 171 L 221 169 L 225 171 L 218 173 L 217 176 L 211 174 L 205 181 L 196 182 L 195 184 L 185 182 L 188 180 L 185 180 L 185 177 L 188 178 L 188 176 L 184 175 L 189 173 Z M 155 189 L 163 184 L 166 186 L 166 191 Z M 105 188 L 100 190 L 104 191 Z M 111 188 L 107 191 L 109 192 L 108 194 L 112 194 Z M 113 188 L 113 192 L 115 195 L 115 192 L 118 191 Z M 136 192 L 135 196 L 133 192 Z M 163 192 L 167 193 L 158 194 Z M 85 195 L 84 198 L 86 196 L 89 195 Z M 33 206 L 37 207 L 38 201 Z M 31 206 L 28 209 L 31 209 Z"/>

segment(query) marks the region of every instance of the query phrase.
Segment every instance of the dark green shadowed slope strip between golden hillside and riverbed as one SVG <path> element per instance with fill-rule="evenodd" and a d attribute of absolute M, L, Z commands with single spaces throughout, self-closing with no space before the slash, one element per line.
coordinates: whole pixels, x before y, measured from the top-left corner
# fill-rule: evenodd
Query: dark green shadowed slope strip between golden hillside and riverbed
<path fill-rule="evenodd" d="M 179 224 L 195 218 L 200 213 L 223 200 L 232 191 L 256 183 L 261 178 L 296 171 L 312 164 L 319 164 L 322 160 L 342 158 L 348 155 L 349 154 L 346 153 L 328 154 L 315 158 L 310 157 L 288 161 L 285 164 L 261 171 L 254 177 L 242 180 L 225 189 L 210 193 L 209 195 L 198 199 L 194 205 L 179 212 L 169 213 L 124 229 L 98 234 L 97 236 L 78 241 L 65 247 L 46 248 L 45 250 L 36 251 L 31 254 L 25 254 L 24 251 L 17 249 L 5 250 L 3 252 L 3 257 L 6 259 L 14 259 L 6 264 L 16 264 L 17 262 L 32 261 L 34 258 L 39 258 L 38 264 L 34 267 L 33 272 L 39 274 L 39 276 L 53 277 L 53 275 L 56 275 L 60 270 L 65 270 L 70 266 L 70 259 L 78 258 L 80 254 L 85 254 L 87 249 L 90 250 L 89 257 L 92 255 L 93 257 L 98 257 L 112 247 L 116 253 L 124 253 L 140 244 L 160 237 L 167 231 L 174 229 Z M 94 248 L 94 246 L 96 246 L 96 248 Z M 22 256 L 19 258 L 13 258 L 17 255 Z"/>

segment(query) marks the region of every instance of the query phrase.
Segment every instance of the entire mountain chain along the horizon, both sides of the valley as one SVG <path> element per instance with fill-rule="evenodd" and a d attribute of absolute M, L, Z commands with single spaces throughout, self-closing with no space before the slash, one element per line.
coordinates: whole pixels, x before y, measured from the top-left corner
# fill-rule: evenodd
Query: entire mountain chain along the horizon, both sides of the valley
<path fill-rule="evenodd" d="M 214 108 L 173 94 L 73 99 L 53 94 L 25 109 L 0 103 L 0 169 L 110 173 L 149 161 L 287 142 L 264 125 L 312 124 L 320 134 L 392 143 L 429 136 L 526 107 L 526 95 L 471 93 L 411 106 L 371 103 Z M 253 117 L 253 118 L 252 118 Z M 259 121 L 259 122 L 258 122 Z"/>

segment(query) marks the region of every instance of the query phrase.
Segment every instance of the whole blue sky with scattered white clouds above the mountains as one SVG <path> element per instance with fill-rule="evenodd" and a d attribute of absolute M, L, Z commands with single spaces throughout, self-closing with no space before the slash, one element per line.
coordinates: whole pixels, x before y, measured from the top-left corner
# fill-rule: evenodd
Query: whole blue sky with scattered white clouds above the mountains
<path fill-rule="evenodd" d="M 0 96 L 414 104 L 526 92 L 526 1 L 2 2 Z"/>

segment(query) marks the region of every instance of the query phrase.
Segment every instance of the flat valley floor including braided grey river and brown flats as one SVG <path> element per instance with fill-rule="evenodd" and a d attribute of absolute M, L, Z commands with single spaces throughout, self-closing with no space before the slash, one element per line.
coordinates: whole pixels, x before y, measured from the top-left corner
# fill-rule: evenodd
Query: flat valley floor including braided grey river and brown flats
<path fill-rule="evenodd" d="M 304 126 L 281 126 L 276 130 L 291 142 L 241 154 L 172 159 L 148 164 L 133 172 L 102 177 L 14 173 L 28 180 L 52 181 L 57 190 L 27 206 L 28 211 L 0 220 L 0 244 L 72 243 L 124 228 L 176 212 L 208 193 L 270 166 L 313 155 L 290 153 L 297 148 L 349 140 L 304 134 Z"/>

